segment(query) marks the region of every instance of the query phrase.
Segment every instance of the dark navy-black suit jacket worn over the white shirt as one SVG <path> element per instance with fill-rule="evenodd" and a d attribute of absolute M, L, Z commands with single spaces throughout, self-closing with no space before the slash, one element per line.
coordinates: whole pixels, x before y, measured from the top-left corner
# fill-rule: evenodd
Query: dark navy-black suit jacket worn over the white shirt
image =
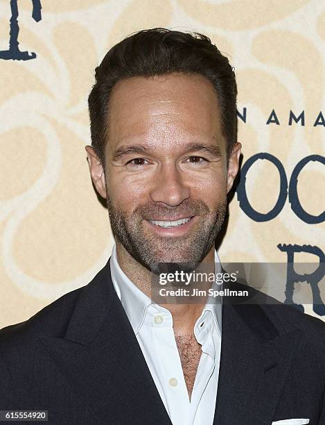
<path fill-rule="evenodd" d="M 253 295 L 261 304 L 222 306 L 213 424 L 325 424 L 325 324 Z M 170 424 L 109 261 L 85 287 L 0 331 L 0 410 L 24 409 L 48 410 L 50 424 Z"/>

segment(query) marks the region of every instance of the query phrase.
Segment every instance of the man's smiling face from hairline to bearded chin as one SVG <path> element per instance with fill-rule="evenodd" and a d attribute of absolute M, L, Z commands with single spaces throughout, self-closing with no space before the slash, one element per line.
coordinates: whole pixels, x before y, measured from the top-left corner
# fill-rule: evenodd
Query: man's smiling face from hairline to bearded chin
<path fill-rule="evenodd" d="M 218 100 L 206 78 L 173 74 L 118 82 L 105 181 L 101 176 L 97 182 L 116 241 L 153 272 L 159 263 L 196 267 L 225 219 L 238 170 L 236 147 L 227 168 Z"/>

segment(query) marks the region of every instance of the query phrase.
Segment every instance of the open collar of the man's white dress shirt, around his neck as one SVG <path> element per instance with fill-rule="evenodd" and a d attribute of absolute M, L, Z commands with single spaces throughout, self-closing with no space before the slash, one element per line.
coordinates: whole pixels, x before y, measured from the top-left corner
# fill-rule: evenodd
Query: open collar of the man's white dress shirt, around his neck
<path fill-rule="evenodd" d="M 220 259 L 218 253 L 215 249 L 214 258 L 216 264 L 216 273 L 221 269 L 220 268 Z M 110 269 L 114 289 L 118 295 L 118 298 L 121 300 L 123 308 L 126 315 L 130 321 L 130 324 L 133 328 L 135 335 L 139 332 L 143 321 L 146 317 L 148 307 L 150 305 L 155 306 L 157 310 L 166 311 L 166 308 L 158 306 L 155 304 L 146 294 L 144 294 L 137 285 L 134 285 L 132 281 L 126 276 L 121 267 L 118 265 L 118 260 L 116 256 L 116 244 L 112 249 L 112 256 L 110 259 Z M 216 284 L 214 284 L 216 285 Z M 208 299 L 207 304 L 202 310 L 202 315 L 197 322 L 202 322 L 202 317 L 206 314 L 206 311 L 210 311 L 213 315 L 214 322 L 216 324 L 217 331 L 221 336 L 221 318 L 222 318 L 222 299 Z"/>

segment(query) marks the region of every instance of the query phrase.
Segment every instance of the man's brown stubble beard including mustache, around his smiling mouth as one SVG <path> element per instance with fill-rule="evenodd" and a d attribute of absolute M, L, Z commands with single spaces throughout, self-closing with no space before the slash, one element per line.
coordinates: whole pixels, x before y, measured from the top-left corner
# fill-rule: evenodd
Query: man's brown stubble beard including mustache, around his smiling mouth
<path fill-rule="evenodd" d="M 170 269 L 170 263 L 176 269 L 193 270 L 207 256 L 222 228 L 227 212 L 227 195 L 209 210 L 201 200 L 186 199 L 176 208 L 167 208 L 157 203 L 139 206 L 130 215 L 114 206 L 107 191 L 107 209 L 114 238 L 128 251 L 130 256 L 146 267 L 150 272 L 159 274 Z M 150 217 L 191 217 L 199 219 L 181 237 L 155 235 L 143 226 L 143 219 Z"/>

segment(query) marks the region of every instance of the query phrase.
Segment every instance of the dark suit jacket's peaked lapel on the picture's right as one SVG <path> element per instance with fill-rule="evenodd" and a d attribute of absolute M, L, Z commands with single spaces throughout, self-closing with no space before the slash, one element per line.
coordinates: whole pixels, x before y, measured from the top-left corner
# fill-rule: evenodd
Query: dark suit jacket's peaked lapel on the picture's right
<path fill-rule="evenodd" d="M 222 306 L 214 425 L 272 423 L 299 335 L 279 335 L 259 305 Z"/>

